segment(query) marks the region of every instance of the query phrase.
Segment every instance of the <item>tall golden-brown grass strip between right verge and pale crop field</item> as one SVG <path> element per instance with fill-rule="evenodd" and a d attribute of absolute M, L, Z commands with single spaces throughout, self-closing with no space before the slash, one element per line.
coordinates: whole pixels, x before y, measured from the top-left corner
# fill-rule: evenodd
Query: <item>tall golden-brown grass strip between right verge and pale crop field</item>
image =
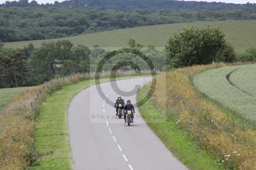
<path fill-rule="evenodd" d="M 233 65 L 239 64 L 248 63 Z M 161 74 L 153 99 L 157 108 L 174 114 L 176 126 L 226 169 L 255 170 L 255 127 L 206 98 L 192 84 L 196 74 L 229 65 L 198 65 Z"/>

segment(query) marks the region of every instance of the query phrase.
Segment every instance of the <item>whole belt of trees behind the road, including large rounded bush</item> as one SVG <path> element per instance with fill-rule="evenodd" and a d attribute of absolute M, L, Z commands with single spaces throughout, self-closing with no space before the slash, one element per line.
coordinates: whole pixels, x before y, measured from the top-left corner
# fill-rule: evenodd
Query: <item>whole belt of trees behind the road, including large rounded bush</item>
<path fill-rule="evenodd" d="M 236 54 L 225 39 L 225 34 L 219 28 L 211 27 L 184 28 L 169 38 L 164 50 L 157 50 L 154 45 L 144 47 L 133 39 L 128 41 L 125 48 L 142 52 L 154 68 L 163 71 L 205 65 L 213 61 L 256 62 L 256 48 L 248 48 L 244 54 Z M 74 46 L 68 40 L 44 42 L 39 48 L 32 44 L 24 48 L 3 48 L 3 44 L 0 44 L 0 88 L 34 86 L 54 77 L 96 71 L 109 52 L 98 45 L 93 48 Z M 111 71 L 118 66 L 122 70 L 137 66 L 149 69 L 147 63 L 136 54 L 116 54 L 108 59 L 102 71 Z"/>

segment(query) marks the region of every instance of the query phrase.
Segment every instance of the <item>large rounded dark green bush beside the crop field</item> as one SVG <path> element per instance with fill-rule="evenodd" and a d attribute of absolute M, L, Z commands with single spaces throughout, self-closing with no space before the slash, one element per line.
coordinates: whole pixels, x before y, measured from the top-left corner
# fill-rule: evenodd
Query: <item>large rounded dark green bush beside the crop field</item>
<path fill-rule="evenodd" d="M 167 66 L 177 68 L 212 61 L 232 62 L 234 49 L 227 44 L 219 28 L 191 27 L 170 37 L 166 44 Z"/>

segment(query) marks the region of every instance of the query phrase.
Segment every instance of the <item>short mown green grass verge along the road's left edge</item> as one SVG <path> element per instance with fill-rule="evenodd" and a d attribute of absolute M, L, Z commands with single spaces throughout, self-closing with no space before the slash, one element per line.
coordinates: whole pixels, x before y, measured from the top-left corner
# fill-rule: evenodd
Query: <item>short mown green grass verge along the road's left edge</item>
<path fill-rule="evenodd" d="M 145 77 L 145 76 L 140 76 Z M 137 77 L 120 77 L 128 79 Z M 108 82 L 109 78 L 101 79 Z M 94 85 L 95 81 L 85 80 L 67 85 L 47 96 L 42 103 L 35 130 L 35 147 L 42 154 L 39 165 L 29 170 L 70 170 L 73 169 L 68 129 L 67 107 L 71 99 L 81 90 Z"/>

